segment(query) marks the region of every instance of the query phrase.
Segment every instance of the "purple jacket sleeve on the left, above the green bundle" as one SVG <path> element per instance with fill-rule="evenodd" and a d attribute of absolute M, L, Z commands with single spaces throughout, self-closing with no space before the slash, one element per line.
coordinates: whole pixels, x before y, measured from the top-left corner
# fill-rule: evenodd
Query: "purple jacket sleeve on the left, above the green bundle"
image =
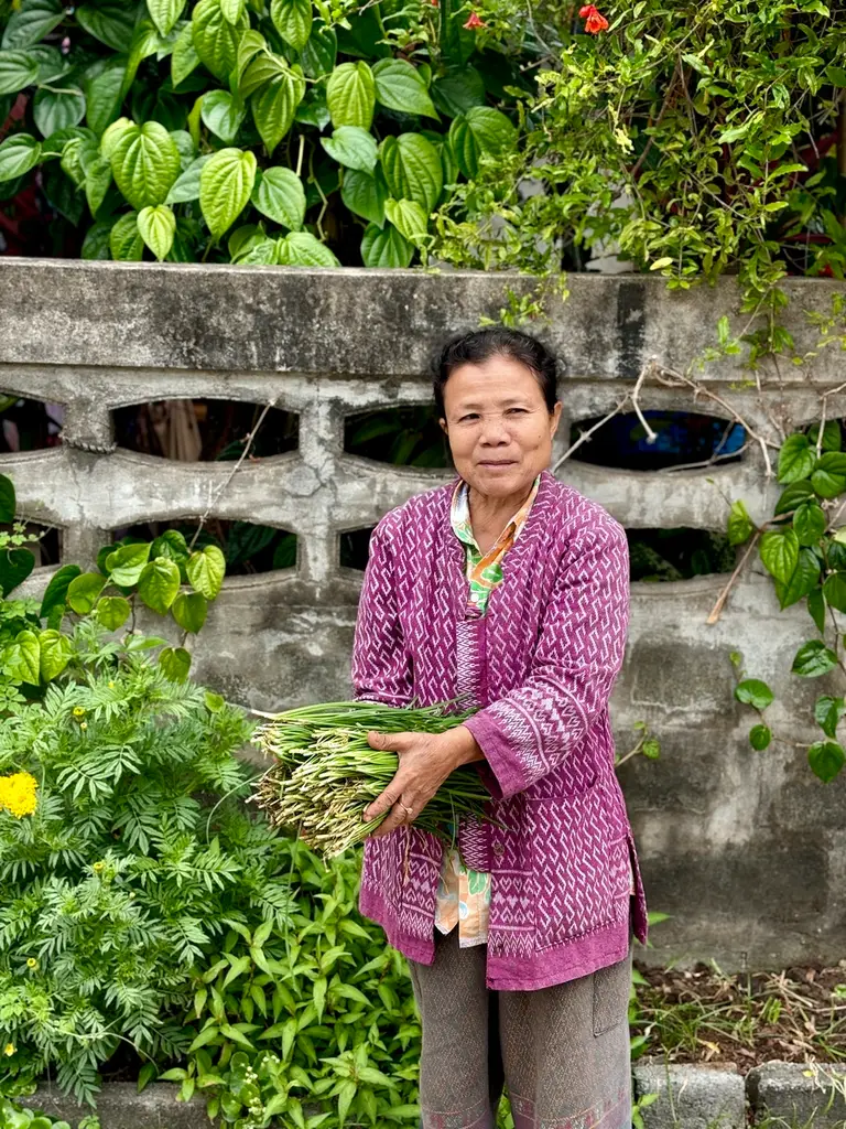
<path fill-rule="evenodd" d="M 352 656 L 356 701 L 407 706 L 413 695 L 412 664 L 396 595 L 390 515 L 373 530 L 359 599 Z"/>

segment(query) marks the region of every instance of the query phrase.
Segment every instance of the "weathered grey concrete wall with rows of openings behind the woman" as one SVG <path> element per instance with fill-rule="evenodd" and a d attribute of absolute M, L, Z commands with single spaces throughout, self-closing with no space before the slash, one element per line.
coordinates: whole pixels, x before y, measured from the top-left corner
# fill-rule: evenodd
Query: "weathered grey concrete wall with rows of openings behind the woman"
<path fill-rule="evenodd" d="M 440 471 L 394 469 L 343 453 L 345 414 L 426 402 L 421 377 L 448 332 L 495 316 L 504 286 L 525 278 L 450 272 L 299 270 L 0 260 L 0 391 L 67 406 L 61 448 L 0 458 L 21 510 L 59 525 L 69 561 L 92 559 L 112 528 L 197 515 L 231 464 L 169 463 L 114 449 L 114 408 L 178 396 L 266 402 L 296 411 L 299 450 L 245 464 L 213 506 L 223 518 L 277 525 L 299 536 L 296 569 L 233 577 L 197 646 L 199 677 L 259 709 L 349 694 L 349 654 L 361 575 L 337 564 L 341 532 L 369 527 L 390 507 L 443 481 Z M 802 310 L 825 312 L 839 283 L 787 283 L 800 350 L 817 334 Z M 567 420 L 609 410 L 646 357 L 677 368 L 713 341 L 729 314 L 731 280 L 669 294 L 638 275 L 571 279 L 547 336 L 566 364 Z M 782 367 L 761 388 L 732 360 L 712 366 L 712 388 L 775 436 L 814 417 L 817 391 L 844 379 L 841 355 Z M 772 379 L 772 378 L 770 378 Z M 687 393 L 647 386 L 644 408 L 714 411 Z M 846 399 L 828 414 L 846 415 Z M 562 428 L 562 434 L 567 427 Z M 608 471 L 567 462 L 562 476 L 627 527 L 724 528 L 723 495 L 754 517 L 772 510 L 760 450 L 737 464 L 673 474 Z M 45 577 L 29 581 L 38 585 Z M 747 743 L 750 715 L 733 702 L 731 650 L 784 703 L 773 721 L 791 738 L 808 730 L 825 680 L 797 684 L 792 656 L 807 637 L 802 610 L 779 613 L 754 564 L 722 619 L 705 623 L 724 577 L 633 586 L 628 655 L 615 689 L 620 752 L 646 720 L 658 762 L 637 758 L 620 776 L 647 893 L 672 919 L 649 957 L 714 957 L 725 969 L 836 961 L 846 948 L 846 779 L 829 786 L 801 750 Z"/>

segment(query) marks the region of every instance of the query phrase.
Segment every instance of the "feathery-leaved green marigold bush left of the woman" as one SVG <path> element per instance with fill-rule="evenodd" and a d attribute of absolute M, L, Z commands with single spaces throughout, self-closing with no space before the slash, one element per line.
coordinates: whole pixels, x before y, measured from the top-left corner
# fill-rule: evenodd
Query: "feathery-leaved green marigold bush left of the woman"
<path fill-rule="evenodd" d="M 37 807 L 0 813 L 0 1085 L 47 1068 L 90 1101 L 129 1041 L 169 1058 L 191 1042 L 169 1016 L 227 928 L 281 928 L 283 841 L 235 798 L 252 730 L 201 686 L 175 682 L 143 637 L 108 641 L 88 620 L 73 676 L 11 702 L 0 773 L 29 772 Z"/>

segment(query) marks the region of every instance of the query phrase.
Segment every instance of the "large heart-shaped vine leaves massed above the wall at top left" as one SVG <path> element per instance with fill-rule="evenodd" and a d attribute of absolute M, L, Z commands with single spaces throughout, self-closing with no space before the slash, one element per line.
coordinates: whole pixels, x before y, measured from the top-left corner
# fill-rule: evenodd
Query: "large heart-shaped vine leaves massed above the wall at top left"
<path fill-rule="evenodd" d="M 425 259 L 430 215 L 513 148 L 529 89 L 522 28 L 466 19 L 459 0 L 20 0 L 0 8 L 0 97 L 29 99 L 0 184 L 41 168 L 83 257 Z"/>

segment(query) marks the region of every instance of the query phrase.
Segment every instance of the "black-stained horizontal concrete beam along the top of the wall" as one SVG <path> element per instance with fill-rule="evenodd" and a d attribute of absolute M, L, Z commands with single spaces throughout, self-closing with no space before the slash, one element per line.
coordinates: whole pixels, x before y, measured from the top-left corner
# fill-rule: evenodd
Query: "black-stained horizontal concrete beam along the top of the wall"
<path fill-rule="evenodd" d="M 7 259 L 0 273 L 3 357 L 24 365 L 113 365 L 411 376 L 444 334 L 496 316 L 505 288 L 532 280 L 479 271 L 343 271 L 200 263 L 100 263 Z M 790 279 L 794 306 L 829 312 L 836 281 Z M 549 338 L 576 378 L 633 379 L 658 353 L 684 368 L 714 343 L 711 310 L 742 332 L 735 285 L 687 295 L 642 274 L 579 274 L 570 298 L 552 307 Z M 106 300 L 104 300 L 104 298 Z M 705 314 L 705 316 L 703 316 Z M 796 318 L 796 347 L 817 334 Z M 834 371 L 832 355 L 822 361 Z M 729 358 L 713 378 L 740 373 Z M 784 379 L 801 383 L 784 368 Z"/>

